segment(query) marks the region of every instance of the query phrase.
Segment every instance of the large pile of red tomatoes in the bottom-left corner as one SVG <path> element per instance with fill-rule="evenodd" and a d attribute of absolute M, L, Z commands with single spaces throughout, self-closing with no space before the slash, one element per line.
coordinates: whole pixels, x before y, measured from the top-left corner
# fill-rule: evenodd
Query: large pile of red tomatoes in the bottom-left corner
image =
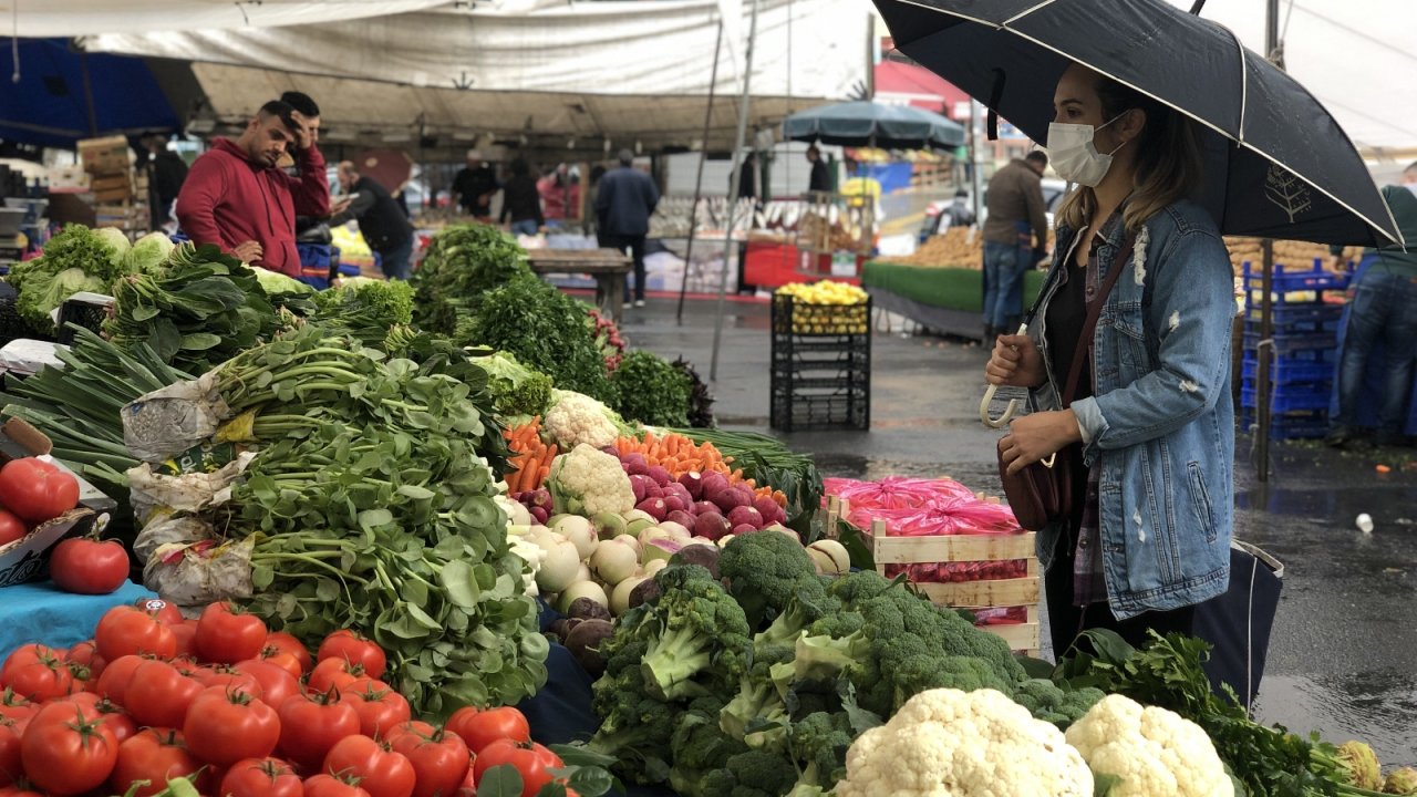
<path fill-rule="evenodd" d="M 92 641 L 31 644 L 0 669 L 0 796 L 470 797 L 510 764 L 530 797 L 561 760 L 513 708 L 410 716 L 384 651 L 336 631 L 312 657 L 230 604 L 112 608 Z M 571 790 L 567 794 L 574 796 Z"/>

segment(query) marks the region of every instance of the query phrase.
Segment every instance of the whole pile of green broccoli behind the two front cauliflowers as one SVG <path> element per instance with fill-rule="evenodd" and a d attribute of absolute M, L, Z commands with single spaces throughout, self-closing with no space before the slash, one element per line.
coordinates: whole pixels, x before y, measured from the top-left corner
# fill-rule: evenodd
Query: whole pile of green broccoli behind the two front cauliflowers
<path fill-rule="evenodd" d="M 662 570 L 605 645 L 591 746 L 621 777 L 683 797 L 820 794 L 852 740 L 925 689 L 999 689 L 1060 726 L 1102 698 L 1030 681 L 1000 638 L 904 581 L 818 576 L 786 535 L 735 537 L 718 572 Z"/>

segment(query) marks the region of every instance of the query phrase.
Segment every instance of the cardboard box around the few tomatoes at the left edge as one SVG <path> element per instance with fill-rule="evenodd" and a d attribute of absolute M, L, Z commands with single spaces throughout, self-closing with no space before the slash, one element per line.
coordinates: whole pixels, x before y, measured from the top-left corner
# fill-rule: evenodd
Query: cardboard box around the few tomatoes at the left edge
<path fill-rule="evenodd" d="M 44 433 L 20 418 L 10 418 L 0 425 L 0 465 L 10 459 L 43 457 L 52 448 Z M 64 468 L 60 462 L 54 464 Z M 82 476 L 75 478 L 79 482 L 79 506 L 35 526 L 24 539 L 0 546 L 0 587 L 47 577 L 51 547 L 64 539 L 89 533 L 95 525 L 102 528 L 108 523 L 108 515 L 118 503 Z"/>

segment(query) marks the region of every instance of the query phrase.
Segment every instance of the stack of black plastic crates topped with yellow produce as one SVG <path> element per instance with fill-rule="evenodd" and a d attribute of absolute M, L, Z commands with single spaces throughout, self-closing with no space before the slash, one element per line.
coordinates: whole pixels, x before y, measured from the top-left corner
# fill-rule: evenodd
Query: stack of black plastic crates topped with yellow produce
<path fill-rule="evenodd" d="M 769 421 L 782 431 L 871 425 L 871 303 L 772 296 Z"/>

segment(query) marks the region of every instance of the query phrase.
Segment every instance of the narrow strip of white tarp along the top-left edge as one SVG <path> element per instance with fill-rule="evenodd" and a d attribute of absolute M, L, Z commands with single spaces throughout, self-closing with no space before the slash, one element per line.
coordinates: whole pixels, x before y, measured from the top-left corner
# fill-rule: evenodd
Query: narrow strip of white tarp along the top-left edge
<path fill-rule="evenodd" d="M 446 0 L 7 0 L 0 1 L 0 35 L 40 38 L 191 28 L 256 30 L 400 14 L 445 3 Z"/>

